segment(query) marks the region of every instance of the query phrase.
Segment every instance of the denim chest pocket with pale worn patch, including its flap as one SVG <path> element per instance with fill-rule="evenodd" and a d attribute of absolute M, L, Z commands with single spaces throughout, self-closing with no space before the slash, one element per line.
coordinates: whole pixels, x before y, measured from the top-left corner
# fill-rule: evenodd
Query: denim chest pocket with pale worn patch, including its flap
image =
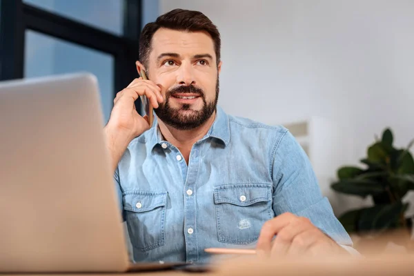
<path fill-rule="evenodd" d="M 272 188 L 267 184 L 215 187 L 214 202 L 219 242 L 255 242 L 264 222 L 274 217 Z"/>

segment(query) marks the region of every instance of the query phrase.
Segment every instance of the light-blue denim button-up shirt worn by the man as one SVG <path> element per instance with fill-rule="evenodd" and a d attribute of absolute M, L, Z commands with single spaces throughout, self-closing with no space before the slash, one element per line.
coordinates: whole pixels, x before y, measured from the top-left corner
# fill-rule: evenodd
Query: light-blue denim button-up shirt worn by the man
<path fill-rule="evenodd" d="M 155 121 L 130 142 L 115 180 L 135 262 L 208 262 L 205 248 L 252 248 L 264 222 L 285 212 L 352 245 L 290 132 L 221 108 L 188 165 Z"/>

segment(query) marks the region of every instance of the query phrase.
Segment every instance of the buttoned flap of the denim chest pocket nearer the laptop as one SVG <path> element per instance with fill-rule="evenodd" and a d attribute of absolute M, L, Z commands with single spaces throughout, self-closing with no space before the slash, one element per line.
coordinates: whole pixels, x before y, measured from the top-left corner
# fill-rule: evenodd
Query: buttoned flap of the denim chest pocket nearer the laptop
<path fill-rule="evenodd" d="M 147 212 L 166 206 L 167 192 L 132 190 L 124 193 L 124 210 L 136 213 Z"/>

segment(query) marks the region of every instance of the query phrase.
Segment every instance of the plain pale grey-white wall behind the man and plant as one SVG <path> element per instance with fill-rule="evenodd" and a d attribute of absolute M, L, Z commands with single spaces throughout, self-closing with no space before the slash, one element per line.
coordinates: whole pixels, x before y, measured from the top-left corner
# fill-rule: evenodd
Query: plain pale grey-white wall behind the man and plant
<path fill-rule="evenodd" d="M 397 146 L 414 137 L 414 1 L 159 3 L 160 13 L 200 10 L 218 26 L 227 112 L 266 124 L 320 116 L 351 125 L 348 164 L 386 126 Z"/>

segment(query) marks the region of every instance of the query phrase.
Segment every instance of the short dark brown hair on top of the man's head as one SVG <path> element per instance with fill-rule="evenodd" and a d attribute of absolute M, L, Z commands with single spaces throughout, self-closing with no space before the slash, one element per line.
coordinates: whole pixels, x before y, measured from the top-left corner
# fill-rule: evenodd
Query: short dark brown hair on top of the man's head
<path fill-rule="evenodd" d="M 151 41 L 159 28 L 184 30 L 186 32 L 204 31 L 213 39 L 217 66 L 220 61 L 221 39 L 217 26 L 206 15 L 195 10 L 175 9 L 160 15 L 155 22 L 146 24 L 139 37 L 139 59 L 148 67 L 148 57 L 151 52 Z M 148 68 L 147 68 L 148 70 Z"/>

